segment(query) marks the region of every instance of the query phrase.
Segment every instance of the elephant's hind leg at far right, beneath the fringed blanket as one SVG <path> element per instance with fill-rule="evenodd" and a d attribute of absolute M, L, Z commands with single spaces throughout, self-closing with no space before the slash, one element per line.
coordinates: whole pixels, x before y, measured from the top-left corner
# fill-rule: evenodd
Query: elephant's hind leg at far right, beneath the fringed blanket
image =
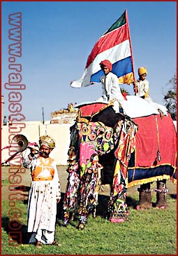
<path fill-rule="evenodd" d="M 165 209 L 167 206 L 167 201 L 165 200 L 165 194 L 168 192 L 166 189 L 166 180 L 157 180 L 156 182 L 157 188 L 156 191 L 156 208 Z"/>

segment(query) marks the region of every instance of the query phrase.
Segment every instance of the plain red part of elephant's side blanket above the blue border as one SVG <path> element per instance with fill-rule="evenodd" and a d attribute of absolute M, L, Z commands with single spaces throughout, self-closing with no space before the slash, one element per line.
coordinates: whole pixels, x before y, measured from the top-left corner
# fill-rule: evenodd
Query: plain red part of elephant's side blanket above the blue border
<path fill-rule="evenodd" d="M 155 167 L 169 163 L 176 164 L 176 135 L 175 126 L 170 115 L 144 116 L 133 119 L 138 124 L 138 133 L 135 134 L 135 168 Z M 161 161 L 158 161 L 158 151 Z"/>

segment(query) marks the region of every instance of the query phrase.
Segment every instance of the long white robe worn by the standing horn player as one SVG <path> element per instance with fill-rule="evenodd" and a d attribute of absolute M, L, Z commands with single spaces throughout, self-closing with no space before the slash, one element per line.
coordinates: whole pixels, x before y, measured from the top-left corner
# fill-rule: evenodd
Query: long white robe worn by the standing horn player
<path fill-rule="evenodd" d="M 51 158 L 43 159 L 45 165 L 49 164 Z M 34 156 L 34 159 L 30 160 L 29 156 L 24 159 L 24 168 L 30 168 L 31 173 L 40 166 L 40 159 Z M 53 160 L 53 159 L 51 159 Z M 33 232 L 30 243 L 35 243 L 36 239 L 41 243 L 49 244 L 54 241 L 54 231 L 57 215 L 57 198 L 61 198 L 59 175 L 57 173 L 57 166 L 54 160 L 51 165 L 54 169 L 54 177 L 52 180 L 40 180 L 32 181 L 31 189 L 29 191 L 28 201 L 28 232 Z M 43 179 L 43 177 L 50 176 L 47 168 L 42 168 L 36 177 Z"/>

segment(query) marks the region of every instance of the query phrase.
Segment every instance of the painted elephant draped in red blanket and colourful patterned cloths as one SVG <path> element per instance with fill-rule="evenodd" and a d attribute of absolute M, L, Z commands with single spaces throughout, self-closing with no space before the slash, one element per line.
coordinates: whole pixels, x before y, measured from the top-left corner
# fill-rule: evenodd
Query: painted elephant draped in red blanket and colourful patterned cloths
<path fill-rule="evenodd" d="M 89 214 L 96 217 L 98 190 L 110 184 L 108 219 L 128 220 L 126 191 L 140 185 L 137 209 L 151 207 L 151 182 L 157 182 L 158 208 L 165 207 L 166 180 L 176 180 L 176 133 L 170 114 L 131 118 L 115 113 L 112 104 L 81 105 L 71 127 L 64 224 L 75 214 L 83 229 Z"/>

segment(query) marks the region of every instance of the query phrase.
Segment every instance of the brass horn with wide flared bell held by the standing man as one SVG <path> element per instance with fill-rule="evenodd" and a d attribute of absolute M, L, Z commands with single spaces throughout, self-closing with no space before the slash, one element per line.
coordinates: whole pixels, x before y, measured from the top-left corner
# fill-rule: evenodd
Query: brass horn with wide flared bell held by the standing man
<path fill-rule="evenodd" d="M 4 163 L 8 163 L 10 160 L 12 160 L 19 152 L 24 151 L 24 149 L 27 149 L 28 146 L 28 140 L 27 137 L 25 137 L 22 134 L 17 134 L 13 137 L 13 140 L 11 141 L 10 147 L 14 147 L 16 152 L 13 154 L 13 156 L 10 156 L 9 159 L 7 159 Z M 3 164 L 3 163 L 1 163 Z"/>

